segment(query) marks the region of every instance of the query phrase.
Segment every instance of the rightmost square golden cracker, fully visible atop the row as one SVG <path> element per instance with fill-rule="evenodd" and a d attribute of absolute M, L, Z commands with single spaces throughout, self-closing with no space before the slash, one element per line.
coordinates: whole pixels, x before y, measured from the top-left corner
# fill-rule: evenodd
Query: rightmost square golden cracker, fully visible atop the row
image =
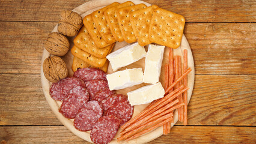
<path fill-rule="evenodd" d="M 179 14 L 156 8 L 150 23 L 150 41 L 176 49 L 180 46 L 185 19 Z"/>

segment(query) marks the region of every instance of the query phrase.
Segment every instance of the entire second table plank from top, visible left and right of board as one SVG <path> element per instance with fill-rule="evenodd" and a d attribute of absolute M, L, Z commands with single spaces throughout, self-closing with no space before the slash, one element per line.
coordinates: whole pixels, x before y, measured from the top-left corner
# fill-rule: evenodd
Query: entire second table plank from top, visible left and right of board
<path fill-rule="evenodd" d="M 0 22 L 0 73 L 40 74 L 56 23 Z M 186 23 L 196 74 L 256 74 L 256 23 Z"/>

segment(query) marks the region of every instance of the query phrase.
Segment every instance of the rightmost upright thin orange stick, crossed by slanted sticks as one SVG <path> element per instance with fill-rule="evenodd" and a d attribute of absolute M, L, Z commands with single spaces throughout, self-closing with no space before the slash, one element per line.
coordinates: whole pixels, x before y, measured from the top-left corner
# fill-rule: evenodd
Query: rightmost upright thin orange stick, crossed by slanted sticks
<path fill-rule="evenodd" d="M 183 73 L 187 70 L 187 49 L 184 49 L 184 63 L 183 63 Z M 183 79 L 183 85 L 187 86 L 187 76 Z M 184 122 L 183 125 L 187 125 L 187 91 L 183 93 L 184 98 Z"/>

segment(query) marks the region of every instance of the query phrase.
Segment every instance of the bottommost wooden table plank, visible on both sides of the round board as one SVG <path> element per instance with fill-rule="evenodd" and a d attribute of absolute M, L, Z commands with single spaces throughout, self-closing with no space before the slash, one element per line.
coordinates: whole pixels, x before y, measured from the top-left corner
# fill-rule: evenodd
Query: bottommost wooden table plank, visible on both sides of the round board
<path fill-rule="evenodd" d="M 174 126 L 171 133 L 149 143 L 255 143 L 254 127 Z M 64 126 L 0 127 L 0 142 L 89 143 Z"/>

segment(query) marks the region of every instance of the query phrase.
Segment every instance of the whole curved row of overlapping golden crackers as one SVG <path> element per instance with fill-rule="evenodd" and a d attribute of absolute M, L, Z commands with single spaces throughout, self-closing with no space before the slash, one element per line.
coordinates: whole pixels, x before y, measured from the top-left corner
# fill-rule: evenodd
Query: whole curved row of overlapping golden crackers
<path fill-rule="evenodd" d="M 180 46 L 185 19 L 157 5 L 147 7 L 127 1 L 114 2 L 84 17 L 74 40 L 72 70 L 97 67 L 108 70 L 108 55 L 116 41 L 141 46 L 157 43 L 176 49 Z"/>

